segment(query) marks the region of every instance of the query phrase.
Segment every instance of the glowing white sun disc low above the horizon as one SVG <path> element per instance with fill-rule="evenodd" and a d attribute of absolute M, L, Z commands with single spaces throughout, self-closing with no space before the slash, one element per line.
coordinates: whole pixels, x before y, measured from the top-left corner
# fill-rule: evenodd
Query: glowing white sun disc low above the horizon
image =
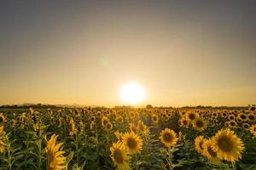
<path fill-rule="evenodd" d="M 125 104 L 136 105 L 145 99 L 146 91 L 137 82 L 128 82 L 120 91 L 120 97 Z"/>

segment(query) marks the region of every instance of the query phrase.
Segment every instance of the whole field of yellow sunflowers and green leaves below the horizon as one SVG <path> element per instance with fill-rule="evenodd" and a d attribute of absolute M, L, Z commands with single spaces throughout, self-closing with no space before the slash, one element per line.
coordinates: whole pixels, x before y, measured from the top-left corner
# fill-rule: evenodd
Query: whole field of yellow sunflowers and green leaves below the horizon
<path fill-rule="evenodd" d="M 0 169 L 256 169 L 256 111 L 0 109 Z"/>

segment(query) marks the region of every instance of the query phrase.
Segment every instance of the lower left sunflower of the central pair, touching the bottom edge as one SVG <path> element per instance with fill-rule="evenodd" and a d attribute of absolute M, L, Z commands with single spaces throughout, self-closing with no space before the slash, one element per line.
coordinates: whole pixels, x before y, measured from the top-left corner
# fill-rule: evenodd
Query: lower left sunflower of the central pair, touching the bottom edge
<path fill-rule="evenodd" d="M 121 142 L 113 143 L 110 148 L 111 159 L 113 164 L 120 170 L 130 169 L 129 161 L 131 156 L 128 156 L 125 147 Z"/>

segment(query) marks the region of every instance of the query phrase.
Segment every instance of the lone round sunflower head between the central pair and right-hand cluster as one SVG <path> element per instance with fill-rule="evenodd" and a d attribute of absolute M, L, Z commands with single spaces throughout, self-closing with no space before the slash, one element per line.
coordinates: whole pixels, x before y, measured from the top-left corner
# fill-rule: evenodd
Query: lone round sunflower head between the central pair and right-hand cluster
<path fill-rule="evenodd" d="M 165 130 L 161 131 L 160 139 L 161 142 L 168 148 L 177 144 L 177 134 L 170 128 L 165 128 Z"/>

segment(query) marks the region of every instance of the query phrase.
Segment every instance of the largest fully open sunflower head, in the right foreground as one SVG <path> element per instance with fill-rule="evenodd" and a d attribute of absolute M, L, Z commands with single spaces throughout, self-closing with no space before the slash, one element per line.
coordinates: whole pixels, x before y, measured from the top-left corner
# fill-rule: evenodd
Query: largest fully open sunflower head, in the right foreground
<path fill-rule="evenodd" d="M 217 152 L 220 159 L 226 161 L 238 161 L 244 150 L 243 143 L 239 137 L 229 128 L 219 130 L 212 137 L 212 149 Z"/>

